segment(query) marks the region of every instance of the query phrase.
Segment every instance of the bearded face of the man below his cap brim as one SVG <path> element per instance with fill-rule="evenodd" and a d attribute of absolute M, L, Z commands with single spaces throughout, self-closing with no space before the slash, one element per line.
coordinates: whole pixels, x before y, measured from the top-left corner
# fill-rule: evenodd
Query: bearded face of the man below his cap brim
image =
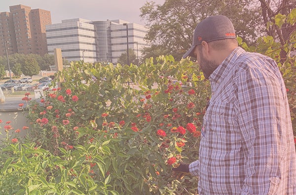
<path fill-rule="evenodd" d="M 196 56 L 196 60 L 200 69 L 204 73 L 205 78 L 209 79 L 209 76 L 214 72 L 214 70 L 216 70 L 219 64 L 217 64 L 214 60 L 206 59 L 202 53 L 201 46 L 196 46 L 193 53 Z"/>

